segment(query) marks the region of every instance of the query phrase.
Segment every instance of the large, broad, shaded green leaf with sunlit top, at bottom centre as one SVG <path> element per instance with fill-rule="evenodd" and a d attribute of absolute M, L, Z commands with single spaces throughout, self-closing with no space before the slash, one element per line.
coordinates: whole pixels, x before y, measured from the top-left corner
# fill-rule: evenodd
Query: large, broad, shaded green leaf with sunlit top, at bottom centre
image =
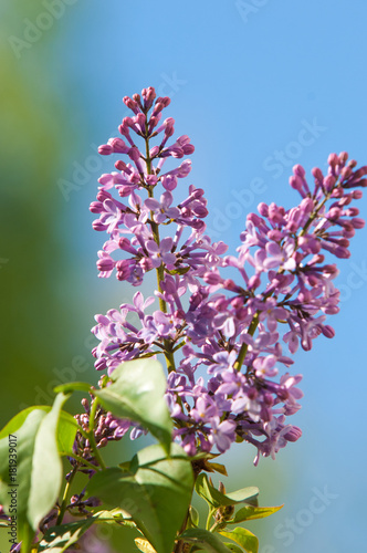
<path fill-rule="evenodd" d="M 190 459 L 172 444 L 170 458 L 160 445 L 147 447 L 133 458 L 128 472 L 117 467 L 99 471 L 86 491 L 127 511 L 157 553 L 171 553 L 192 487 Z"/>

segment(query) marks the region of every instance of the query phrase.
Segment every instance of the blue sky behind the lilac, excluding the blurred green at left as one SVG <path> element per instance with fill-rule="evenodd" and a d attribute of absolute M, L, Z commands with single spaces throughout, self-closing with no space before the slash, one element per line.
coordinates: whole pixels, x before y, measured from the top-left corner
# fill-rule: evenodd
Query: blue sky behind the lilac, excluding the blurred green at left
<path fill-rule="evenodd" d="M 285 207 L 298 201 L 287 185 L 294 164 L 308 171 L 324 168 L 328 154 L 340 150 L 367 164 L 366 22 L 363 0 L 76 0 L 55 21 L 56 38 L 45 54 L 50 81 L 38 84 L 41 91 L 57 90 L 82 137 L 72 153 L 65 149 L 60 177 L 72 180 L 76 165 L 95 157 L 93 145 L 105 143 L 113 129 L 117 134 L 126 112 L 123 96 L 156 86 L 171 96 L 167 116 L 176 119 L 177 135 L 188 134 L 196 146 L 182 186 L 206 189 L 208 226 L 234 250 L 247 212 L 260 201 Z M 107 160 L 102 170 L 87 170 L 80 190 L 64 202 L 69 239 L 80 237 L 74 263 L 81 263 L 83 276 L 74 285 L 86 284 L 75 289 L 88 303 L 86 333 L 95 312 L 118 305 L 128 293 L 97 280 L 95 270 L 102 239 L 91 230 L 87 205 L 99 173 L 111 168 Z M 359 207 L 366 217 L 366 198 Z M 264 503 L 286 503 L 268 526 L 261 553 L 344 553 L 363 543 L 366 232 L 358 232 L 353 258 L 340 263 L 342 313 L 331 322 L 336 337 L 319 338 L 312 352 L 296 356 L 305 397 L 295 422 L 304 437 L 260 469 L 251 468 L 252 451 L 242 460 L 235 448 L 229 457 L 241 484 L 252 478 L 261 487 L 261 474 Z M 276 479 L 284 492 L 272 491 Z M 319 500 L 325 509 L 314 512 L 313 498 L 325 487 L 334 497 Z M 296 530 L 286 528 L 292 517 Z M 274 530 L 279 524 L 284 528 Z"/>

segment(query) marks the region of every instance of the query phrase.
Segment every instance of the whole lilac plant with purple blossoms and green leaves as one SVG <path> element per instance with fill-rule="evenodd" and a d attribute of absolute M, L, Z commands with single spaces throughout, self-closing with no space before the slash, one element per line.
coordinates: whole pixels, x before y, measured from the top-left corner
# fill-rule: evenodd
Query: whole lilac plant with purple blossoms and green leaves
<path fill-rule="evenodd" d="M 280 508 L 259 507 L 254 487 L 216 488 L 207 473 L 227 476 L 217 458 L 233 442 L 254 446 L 256 465 L 301 437 L 289 421 L 303 396 L 292 356 L 319 335 L 334 337 L 326 322 L 339 311 L 333 260 L 349 257 L 364 227 L 352 202 L 367 186 L 367 167 L 331 154 L 326 174 L 314 168 L 307 180 L 295 165 L 290 186 L 300 202 L 261 202 L 229 253 L 206 234 L 205 191 L 185 185 L 195 147 L 187 135 L 172 138 L 171 117 L 161 121 L 170 100 L 148 87 L 124 102 L 132 116 L 122 137 L 99 147 L 117 160 L 91 205 L 93 228 L 108 234 L 97 269 L 135 288 L 153 272 L 157 284 L 95 316 L 97 386 L 59 386 L 52 407 L 24 409 L 0 432 L 0 525 L 22 553 L 109 552 L 97 539 L 101 524 L 135 529 L 144 553 L 258 553 L 254 534 L 228 526 Z M 74 392 L 87 397 L 72 417 L 63 406 Z M 108 467 L 103 449 L 127 432 L 150 432 L 158 444 Z M 208 504 L 206 524 L 193 491 Z"/>

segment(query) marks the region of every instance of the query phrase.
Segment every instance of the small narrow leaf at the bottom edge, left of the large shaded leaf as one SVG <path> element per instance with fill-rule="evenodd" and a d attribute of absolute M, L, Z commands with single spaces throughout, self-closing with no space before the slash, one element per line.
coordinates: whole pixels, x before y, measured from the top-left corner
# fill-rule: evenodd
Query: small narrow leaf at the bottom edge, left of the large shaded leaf
<path fill-rule="evenodd" d="M 76 543 L 82 535 L 92 526 L 94 519 L 84 519 L 60 526 L 53 526 L 42 538 L 39 544 L 39 553 L 62 553 Z"/>

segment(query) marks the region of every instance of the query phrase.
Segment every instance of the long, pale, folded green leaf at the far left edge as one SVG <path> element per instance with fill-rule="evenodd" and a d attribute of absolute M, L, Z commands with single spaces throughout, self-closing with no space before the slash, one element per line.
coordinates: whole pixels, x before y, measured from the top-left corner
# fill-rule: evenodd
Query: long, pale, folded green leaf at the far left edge
<path fill-rule="evenodd" d="M 18 414 L 0 434 L 0 503 L 9 511 L 17 494 L 20 540 L 29 539 L 41 519 L 54 505 L 61 482 L 62 461 L 57 447 L 57 426 L 67 396 L 56 396 L 52 408 L 33 407 Z M 17 476 L 9 474 L 9 435 L 17 441 Z M 66 440 L 66 437 L 64 437 Z"/>

